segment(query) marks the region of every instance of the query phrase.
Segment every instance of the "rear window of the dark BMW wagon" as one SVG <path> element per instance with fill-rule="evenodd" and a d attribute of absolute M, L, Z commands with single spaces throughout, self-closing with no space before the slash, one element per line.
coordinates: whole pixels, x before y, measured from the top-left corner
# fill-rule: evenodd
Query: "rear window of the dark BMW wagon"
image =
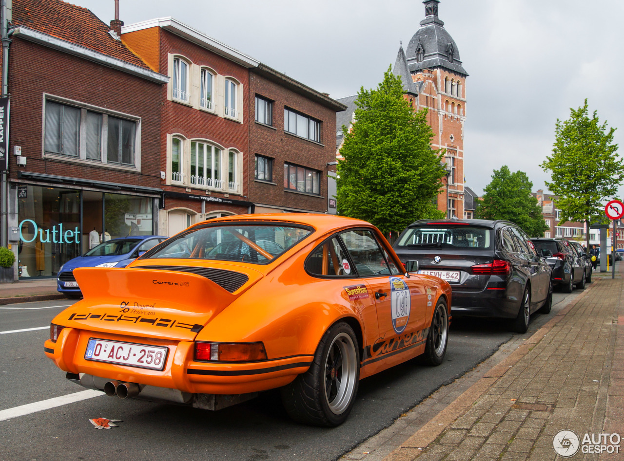
<path fill-rule="evenodd" d="M 494 231 L 475 226 L 411 227 L 399 239 L 399 247 L 437 247 L 489 250 L 494 248 Z"/>

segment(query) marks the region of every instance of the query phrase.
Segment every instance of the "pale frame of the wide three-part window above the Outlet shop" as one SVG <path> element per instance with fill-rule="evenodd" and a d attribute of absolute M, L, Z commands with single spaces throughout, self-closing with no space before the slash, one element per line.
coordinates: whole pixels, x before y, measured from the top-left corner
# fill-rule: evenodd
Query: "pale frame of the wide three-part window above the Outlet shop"
<path fill-rule="evenodd" d="M 47 103 L 61 105 L 62 107 L 72 107 L 80 111 L 78 138 L 77 138 L 77 155 L 69 155 L 62 152 L 55 152 L 46 150 L 46 120 Z M 94 156 L 87 157 L 87 138 L 88 136 L 88 122 L 89 114 L 95 114 L 100 116 L 100 133 L 99 133 L 99 151 L 100 154 L 95 158 Z M 109 128 L 109 116 L 115 119 L 126 121 L 133 124 L 134 136 L 131 141 L 134 146 L 132 151 L 132 161 L 130 163 L 122 163 L 122 161 L 114 162 L 108 159 L 108 128 Z M 127 113 L 116 112 L 103 107 L 97 107 L 84 102 L 76 100 L 70 100 L 67 98 L 58 97 L 49 93 L 43 93 L 42 95 L 42 130 L 41 130 L 41 158 L 54 158 L 62 159 L 70 163 L 81 164 L 98 164 L 107 166 L 111 169 L 123 169 L 130 171 L 140 171 L 141 168 L 141 126 L 142 119 L 135 115 Z M 120 138 L 121 142 L 121 138 Z"/>

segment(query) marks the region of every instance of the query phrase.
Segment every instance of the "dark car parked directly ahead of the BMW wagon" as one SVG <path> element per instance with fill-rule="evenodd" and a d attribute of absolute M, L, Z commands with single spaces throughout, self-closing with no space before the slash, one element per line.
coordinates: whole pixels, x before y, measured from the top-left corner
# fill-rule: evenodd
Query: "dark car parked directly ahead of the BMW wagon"
<path fill-rule="evenodd" d="M 564 293 L 572 293 L 574 287 L 585 288 L 587 273 L 592 278 L 591 270 L 587 269 L 587 259 L 582 259 L 571 242 L 566 239 L 548 239 L 545 237 L 531 239 L 537 250 L 550 250 L 552 256 L 546 260 L 552 268 L 554 286 L 561 287 Z"/>

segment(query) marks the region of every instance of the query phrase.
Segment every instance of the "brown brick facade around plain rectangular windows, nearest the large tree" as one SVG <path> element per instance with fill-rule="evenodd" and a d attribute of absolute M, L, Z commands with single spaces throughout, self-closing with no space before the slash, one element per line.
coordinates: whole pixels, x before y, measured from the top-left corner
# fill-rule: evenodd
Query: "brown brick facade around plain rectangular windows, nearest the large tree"
<path fill-rule="evenodd" d="M 287 209 L 326 212 L 327 163 L 336 160 L 336 112 L 288 88 L 268 80 L 251 70 L 247 109 L 249 121 L 250 201 Z M 273 128 L 255 122 L 255 97 L 258 94 L 273 100 Z M 292 108 L 321 121 L 322 145 L 307 141 L 284 131 L 284 107 Z M 255 181 L 255 154 L 273 158 L 273 184 Z M 316 169 L 321 172 L 320 197 L 284 190 L 284 163 Z"/>

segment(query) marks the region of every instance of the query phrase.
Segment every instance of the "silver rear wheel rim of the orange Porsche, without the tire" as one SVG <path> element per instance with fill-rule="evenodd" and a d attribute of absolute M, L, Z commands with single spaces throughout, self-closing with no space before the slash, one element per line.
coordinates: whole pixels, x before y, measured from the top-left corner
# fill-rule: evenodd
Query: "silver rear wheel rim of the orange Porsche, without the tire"
<path fill-rule="evenodd" d="M 334 414 L 343 413 L 353 399 L 358 371 L 358 354 L 351 336 L 339 333 L 325 358 L 324 394 Z"/>

